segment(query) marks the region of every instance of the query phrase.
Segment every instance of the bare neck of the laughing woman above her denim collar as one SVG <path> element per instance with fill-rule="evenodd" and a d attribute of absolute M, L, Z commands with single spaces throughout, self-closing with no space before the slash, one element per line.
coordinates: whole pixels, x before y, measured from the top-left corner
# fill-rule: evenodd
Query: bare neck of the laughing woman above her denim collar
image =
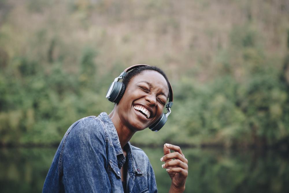
<path fill-rule="evenodd" d="M 116 132 L 118 135 L 119 142 L 121 143 L 121 148 L 127 144 L 127 142 L 131 139 L 131 137 L 134 135 L 135 131 L 131 130 L 123 122 L 121 122 L 121 119 L 114 108 L 112 112 L 108 115 L 110 119 L 112 120 L 112 123 L 114 124 L 114 127 L 116 128 Z"/>

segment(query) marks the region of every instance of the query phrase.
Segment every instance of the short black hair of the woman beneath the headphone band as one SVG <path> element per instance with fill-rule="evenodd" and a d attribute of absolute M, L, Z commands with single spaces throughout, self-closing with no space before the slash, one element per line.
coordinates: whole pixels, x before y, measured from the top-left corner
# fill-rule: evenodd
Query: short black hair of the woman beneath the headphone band
<path fill-rule="evenodd" d="M 170 83 L 168 82 L 168 77 L 166 76 L 166 74 L 164 73 L 164 71 L 162 71 L 160 68 L 155 67 L 155 66 L 141 66 L 138 68 L 135 68 L 131 71 L 129 71 L 127 73 L 127 75 L 125 75 L 125 79 L 123 79 L 123 84 L 125 85 L 125 87 L 127 87 L 129 81 L 131 80 L 131 78 L 133 78 L 134 76 L 140 74 L 142 71 L 144 70 L 154 70 L 157 71 L 158 73 L 160 73 L 165 79 L 166 79 L 166 83 L 168 84 L 168 98 L 171 95 L 170 93 Z"/>

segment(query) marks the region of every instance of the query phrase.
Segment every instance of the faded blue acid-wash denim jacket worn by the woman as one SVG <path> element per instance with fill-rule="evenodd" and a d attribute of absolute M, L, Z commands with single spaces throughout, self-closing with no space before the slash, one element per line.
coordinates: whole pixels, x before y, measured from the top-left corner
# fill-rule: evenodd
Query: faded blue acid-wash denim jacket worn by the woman
<path fill-rule="evenodd" d="M 158 192 L 147 155 L 129 142 L 126 192 Z M 66 131 L 55 153 L 42 192 L 124 192 L 125 163 L 114 124 L 107 113 L 84 117 Z"/>

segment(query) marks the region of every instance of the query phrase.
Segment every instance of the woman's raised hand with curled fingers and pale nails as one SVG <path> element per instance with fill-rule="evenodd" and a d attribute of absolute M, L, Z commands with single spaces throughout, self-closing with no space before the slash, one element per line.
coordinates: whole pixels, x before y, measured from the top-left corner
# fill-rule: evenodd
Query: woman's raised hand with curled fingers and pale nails
<path fill-rule="evenodd" d="M 171 153 L 171 150 L 175 152 Z M 181 152 L 181 148 L 172 144 L 164 144 L 164 156 L 161 161 L 165 162 L 162 167 L 166 168 L 172 179 L 170 192 L 183 192 L 188 176 L 188 160 Z"/>

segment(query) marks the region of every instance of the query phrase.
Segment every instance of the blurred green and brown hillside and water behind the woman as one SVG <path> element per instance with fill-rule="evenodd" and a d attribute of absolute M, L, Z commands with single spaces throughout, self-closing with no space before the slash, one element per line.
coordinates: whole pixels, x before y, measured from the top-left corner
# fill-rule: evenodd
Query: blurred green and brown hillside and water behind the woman
<path fill-rule="evenodd" d="M 131 139 L 160 192 L 164 143 L 187 153 L 186 192 L 289 191 L 289 1 L 0 0 L 1 192 L 40 192 L 67 128 L 110 113 L 134 64 L 174 91 L 164 128 Z"/>

